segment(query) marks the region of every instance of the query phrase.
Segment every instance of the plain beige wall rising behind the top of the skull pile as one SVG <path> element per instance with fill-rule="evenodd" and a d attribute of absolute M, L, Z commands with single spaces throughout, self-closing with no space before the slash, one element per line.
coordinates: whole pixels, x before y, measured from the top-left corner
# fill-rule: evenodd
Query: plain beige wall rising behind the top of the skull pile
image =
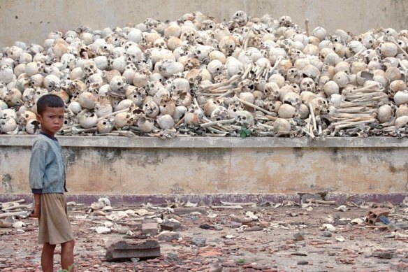
<path fill-rule="evenodd" d="M 406 0 L 0 0 L 0 47 L 15 41 L 42 44 L 50 31 L 81 25 L 103 29 L 143 22 L 147 17 L 177 20 L 195 10 L 217 21 L 229 20 L 236 10 L 256 17 L 289 15 L 301 26 L 309 18 L 311 27 L 340 28 L 354 34 L 376 27 L 400 30 L 408 25 Z"/>

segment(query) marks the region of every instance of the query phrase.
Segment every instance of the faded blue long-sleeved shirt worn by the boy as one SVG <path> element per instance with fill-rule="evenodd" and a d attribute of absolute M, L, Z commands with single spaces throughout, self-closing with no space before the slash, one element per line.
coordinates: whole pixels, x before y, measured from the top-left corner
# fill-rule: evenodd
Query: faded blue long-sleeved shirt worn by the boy
<path fill-rule="evenodd" d="M 39 134 L 31 148 L 29 182 L 34 194 L 64 193 L 65 165 L 57 138 Z"/>

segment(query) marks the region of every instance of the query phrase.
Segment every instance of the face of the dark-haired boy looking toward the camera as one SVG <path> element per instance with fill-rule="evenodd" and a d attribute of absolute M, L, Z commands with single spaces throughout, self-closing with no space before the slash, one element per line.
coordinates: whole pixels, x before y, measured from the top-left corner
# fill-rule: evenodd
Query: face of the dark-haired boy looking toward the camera
<path fill-rule="evenodd" d="M 64 124 L 64 108 L 46 107 L 43 114 L 37 115 L 41 123 L 41 131 L 49 136 L 54 136 Z"/>

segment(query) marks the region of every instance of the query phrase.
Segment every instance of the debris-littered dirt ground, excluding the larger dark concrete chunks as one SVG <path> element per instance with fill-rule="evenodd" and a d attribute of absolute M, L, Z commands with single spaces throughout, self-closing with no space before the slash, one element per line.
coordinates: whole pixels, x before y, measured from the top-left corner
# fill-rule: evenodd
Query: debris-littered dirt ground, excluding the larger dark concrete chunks
<path fill-rule="evenodd" d="M 206 206 L 204 215 L 176 215 L 166 205 L 114 206 L 105 213 L 111 215 L 110 220 L 121 210 L 127 210 L 128 216 L 113 224 L 101 210 L 69 206 L 76 271 L 408 271 L 405 229 L 394 232 L 386 226 L 355 222 L 357 218 L 364 221 L 375 203 L 364 203 L 365 208 L 347 206 L 345 211 L 336 210 L 337 205 L 291 204 L 264 203 L 239 209 Z M 379 206 L 388 210 L 391 222 L 408 221 L 406 206 Z M 132 215 L 129 209 L 146 214 Z M 159 222 L 177 220 L 181 238 L 159 241 L 161 256 L 156 259 L 107 262 L 106 248 L 113 242 L 125 236 L 130 240 L 146 238 L 140 229 L 144 217 Z M 37 221 L 18 220 L 27 226 L 0 229 L 0 271 L 41 271 Z M 325 231 L 323 224 L 329 223 L 335 229 Z M 96 232 L 96 227 L 104 225 L 112 229 L 110 234 Z M 54 262 L 57 271 L 59 247 Z"/>

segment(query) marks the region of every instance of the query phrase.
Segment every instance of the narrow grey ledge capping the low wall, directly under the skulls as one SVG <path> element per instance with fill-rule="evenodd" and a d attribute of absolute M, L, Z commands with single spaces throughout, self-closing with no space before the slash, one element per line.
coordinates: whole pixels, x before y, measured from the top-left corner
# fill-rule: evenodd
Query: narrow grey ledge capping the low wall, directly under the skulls
<path fill-rule="evenodd" d="M 58 136 L 64 147 L 87 148 L 407 148 L 407 138 L 210 138 Z M 31 146 L 36 136 L 0 136 L 0 146 Z"/>

